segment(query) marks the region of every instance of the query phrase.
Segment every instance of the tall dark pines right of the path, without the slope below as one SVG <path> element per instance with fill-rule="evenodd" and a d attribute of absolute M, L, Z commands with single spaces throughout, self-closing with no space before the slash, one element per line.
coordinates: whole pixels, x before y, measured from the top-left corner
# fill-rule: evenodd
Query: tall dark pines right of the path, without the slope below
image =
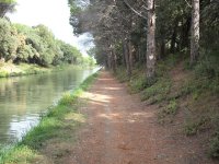
<path fill-rule="evenodd" d="M 200 52 L 218 52 L 217 0 L 69 0 L 69 4 L 74 33 L 92 33 L 97 61 L 114 71 L 124 65 L 130 75 L 136 63 L 145 62 L 146 77 L 153 79 L 157 60 L 169 54 L 191 54 L 193 66 Z"/>

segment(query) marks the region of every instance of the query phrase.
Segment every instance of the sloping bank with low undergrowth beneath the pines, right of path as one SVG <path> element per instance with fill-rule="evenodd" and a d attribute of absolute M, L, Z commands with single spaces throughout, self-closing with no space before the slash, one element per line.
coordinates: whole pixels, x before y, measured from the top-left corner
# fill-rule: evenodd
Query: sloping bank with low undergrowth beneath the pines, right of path
<path fill-rule="evenodd" d="M 147 105 L 158 106 L 160 125 L 173 128 L 181 121 L 181 134 L 197 138 L 206 155 L 219 159 L 219 60 L 214 61 L 203 60 L 191 69 L 186 58 L 170 56 L 159 61 L 153 83 L 147 83 L 142 67 L 136 67 L 130 79 L 124 68 L 115 75 Z"/>

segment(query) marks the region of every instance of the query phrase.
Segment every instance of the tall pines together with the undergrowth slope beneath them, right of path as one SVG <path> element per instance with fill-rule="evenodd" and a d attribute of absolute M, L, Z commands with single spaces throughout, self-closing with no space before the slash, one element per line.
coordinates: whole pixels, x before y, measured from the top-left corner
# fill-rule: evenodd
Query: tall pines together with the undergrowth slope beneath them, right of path
<path fill-rule="evenodd" d="M 158 120 L 219 157 L 219 3 L 69 0 L 74 33 L 91 33 L 97 63 L 158 105 Z M 169 121 L 168 121 L 169 120 Z"/>

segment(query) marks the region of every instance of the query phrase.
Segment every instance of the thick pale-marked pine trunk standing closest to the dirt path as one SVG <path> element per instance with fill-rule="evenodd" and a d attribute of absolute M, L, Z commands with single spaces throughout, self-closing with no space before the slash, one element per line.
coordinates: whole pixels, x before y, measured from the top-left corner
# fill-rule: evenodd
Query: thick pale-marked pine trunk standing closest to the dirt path
<path fill-rule="evenodd" d="M 147 78 L 155 75 L 155 1 L 148 0 Z"/>

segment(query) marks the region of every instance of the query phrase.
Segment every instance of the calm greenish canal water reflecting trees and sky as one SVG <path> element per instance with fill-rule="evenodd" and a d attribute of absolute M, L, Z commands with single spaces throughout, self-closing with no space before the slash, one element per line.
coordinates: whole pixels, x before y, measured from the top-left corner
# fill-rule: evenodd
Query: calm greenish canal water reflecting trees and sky
<path fill-rule="evenodd" d="M 68 69 L 50 74 L 0 79 L 0 143 L 21 139 L 54 101 L 94 71 Z"/>

